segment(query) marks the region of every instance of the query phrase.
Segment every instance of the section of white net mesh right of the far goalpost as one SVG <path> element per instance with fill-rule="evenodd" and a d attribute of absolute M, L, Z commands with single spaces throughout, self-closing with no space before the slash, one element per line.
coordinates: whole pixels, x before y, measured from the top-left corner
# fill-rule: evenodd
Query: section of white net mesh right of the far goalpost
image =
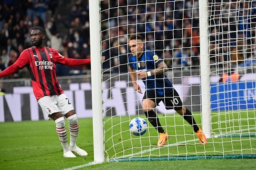
<path fill-rule="evenodd" d="M 256 2 L 209 2 L 212 131 L 255 134 Z M 217 121 L 218 120 L 218 121 Z"/>

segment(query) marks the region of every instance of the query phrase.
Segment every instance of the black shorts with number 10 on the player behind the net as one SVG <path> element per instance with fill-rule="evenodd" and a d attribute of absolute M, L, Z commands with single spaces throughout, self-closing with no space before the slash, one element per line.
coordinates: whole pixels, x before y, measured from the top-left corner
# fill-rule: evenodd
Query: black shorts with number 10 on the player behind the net
<path fill-rule="evenodd" d="M 165 105 L 165 109 L 175 109 L 180 110 L 182 109 L 183 103 L 181 101 L 181 98 L 178 94 L 178 92 L 173 88 L 173 93 L 165 94 L 165 97 L 163 96 L 156 96 L 156 93 L 153 91 L 146 91 L 144 93 L 144 99 L 150 99 L 154 103 L 156 103 L 156 106 L 159 106 L 159 103 L 162 101 Z"/>

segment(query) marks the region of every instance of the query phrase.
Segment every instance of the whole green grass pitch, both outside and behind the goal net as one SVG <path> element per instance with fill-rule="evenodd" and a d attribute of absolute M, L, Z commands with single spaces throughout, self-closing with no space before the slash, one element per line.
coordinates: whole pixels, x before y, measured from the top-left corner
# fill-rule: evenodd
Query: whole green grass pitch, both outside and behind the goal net
<path fill-rule="evenodd" d="M 161 116 L 161 115 L 160 115 Z M 141 116 L 143 117 L 143 116 Z M 199 115 L 196 114 L 196 121 L 200 122 Z M 129 117 L 105 118 L 106 130 L 106 155 L 123 156 L 131 153 L 145 151 L 156 148 L 157 133 L 149 125 L 145 135 L 140 137 L 132 136 L 128 130 Z M 202 155 L 209 152 L 209 155 L 220 154 L 239 154 L 240 151 L 231 152 L 232 149 L 242 147 L 243 154 L 249 153 L 249 148 L 253 148 L 256 153 L 256 138 L 213 138 L 208 139 L 207 145 L 203 146 L 194 136 L 191 127 L 183 122 L 179 115 L 169 116 L 166 119 L 169 140 L 169 147 L 153 150 L 152 152 L 141 152 L 133 157 L 144 156 L 158 157 L 163 156 L 181 156 Z M 121 123 L 122 121 L 122 123 Z M 160 118 L 162 125 L 165 124 L 164 117 Z M 111 124 L 115 125 L 109 130 Z M 67 122 L 66 122 L 67 124 Z M 207 159 L 207 160 L 189 160 L 189 161 L 143 161 L 143 162 L 104 162 L 103 164 L 90 165 L 94 161 L 93 153 L 93 130 L 92 119 L 79 119 L 80 134 L 77 145 L 88 152 L 88 156 L 77 158 L 64 158 L 59 138 L 55 131 L 54 121 L 22 121 L 0 123 L 0 169 L 1 170 L 61 170 L 70 167 L 80 166 L 80 169 L 92 170 L 130 170 L 138 167 L 150 167 L 151 169 L 163 170 L 181 170 L 181 169 L 256 169 L 255 159 Z M 176 126 L 174 126 L 176 124 Z M 185 125 L 184 125 L 185 124 Z M 184 135 L 184 131 L 187 135 Z M 113 137 L 111 137 L 113 136 Z M 150 137 L 149 137 L 150 136 Z M 132 138 L 132 140 L 131 140 Z M 109 139 L 109 140 L 107 140 Z M 193 141 L 194 140 L 194 141 Z M 236 141 L 237 140 L 237 141 Z M 171 146 L 173 143 L 181 143 L 178 146 Z M 222 147 L 222 143 L 225 143 Z M 111 144 L 114 144 L 114 146 Z M 150 147 L 149 147 L 150 146 Z M 240 148 L 239 148 L 240 149 Z M 124 150 L 124 151 L 122 151 Z M 169 152 L 169 153 L 168 153 Z"/>

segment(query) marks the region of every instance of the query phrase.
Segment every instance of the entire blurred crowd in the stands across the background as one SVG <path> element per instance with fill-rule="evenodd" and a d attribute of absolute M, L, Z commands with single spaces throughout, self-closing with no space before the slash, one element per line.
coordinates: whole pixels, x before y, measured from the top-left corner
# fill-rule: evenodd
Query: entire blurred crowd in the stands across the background
<path fill-rule="evenodd" d="M 225 0 L 224 0 L 225 1 Z M 0 70 L 32 46 L 30 32 L 44 27 L 47 46 L 68 58 L 91 58 L 88 0 L 72 0 L 68 19 L 57 13 L 58 0 L 3 0 L 0 4 Z M 226 1 L 225 1 L 226 2 Z M 228 2 L 228 1 L 227 1 Z M 146 4 L 147 3 L 147 4 Z M 209 0 L 210 63 L 244 64 L 255 58 L 256 3 L 219 3 Z M 146 48 L 164 58 L 169 68 L 193 69 L 200 65 L 198 0 L 103 0 L 100 4 L 103 69 L 128 72 L 128 38 L 139 33 Z M 231 12 L 231 15 L 229 13 Z M 231 21 L 231 20 L 234 21 Z M 57 29 L 61 23 L 65 30 Z M 228 30 L 231 29 L 231 30 Z M 234 30 L 233 30 L 234 29 Z M 240 41 L 237 41 L 240 40 Z M 241 44 L 239 44 L 241 43 Z M 234 47 L 234 48 L 233 48 Z M 247 50 L 244 52 L 243 50 Z M 236 55 L 237 52 L 240 55 Z M 240 62 L 237 64 L 237 62 Z M 57 65 L 57 76 L 81 75 L 90 66 Z M 21 70 L 8 78 L 26 78 Z"/>

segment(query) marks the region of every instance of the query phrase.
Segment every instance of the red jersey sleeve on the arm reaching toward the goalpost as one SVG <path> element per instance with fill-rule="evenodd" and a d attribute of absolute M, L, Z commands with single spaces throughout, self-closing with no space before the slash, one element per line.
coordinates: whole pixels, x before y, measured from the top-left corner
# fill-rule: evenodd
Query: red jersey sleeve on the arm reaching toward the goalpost
<path fill-rule="evenodd" d="M 53 55 L 56 63 L 66 66 L 79 66 L 83 64 L 91 64 L 91 59 L 66 58 L 63 55 L 59 54 L 59 52 L 57 52 L 56 49 L 53 49 Z"/>

